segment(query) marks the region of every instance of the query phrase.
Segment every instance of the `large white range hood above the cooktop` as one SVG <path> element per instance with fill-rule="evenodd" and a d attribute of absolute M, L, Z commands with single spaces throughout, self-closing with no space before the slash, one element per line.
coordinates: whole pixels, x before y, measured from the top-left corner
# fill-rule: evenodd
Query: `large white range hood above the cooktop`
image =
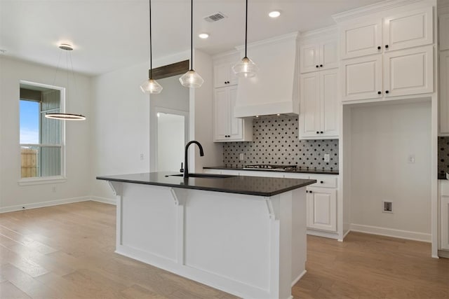
<path fill-rule="evenodd" d="M 248 45 L 248 57 L 259 71 L 253 78 L 239 78 L 235 117 L 299 113 L 297 35 L 295 32 Z M 243 55 L 243 47 L 237 50 Z"/>

